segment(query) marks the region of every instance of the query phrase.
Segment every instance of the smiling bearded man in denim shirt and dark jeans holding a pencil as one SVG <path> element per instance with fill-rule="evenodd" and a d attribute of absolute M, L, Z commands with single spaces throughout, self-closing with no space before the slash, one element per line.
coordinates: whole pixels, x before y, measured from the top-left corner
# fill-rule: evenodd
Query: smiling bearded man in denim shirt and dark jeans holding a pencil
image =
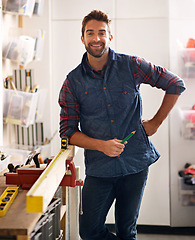
<path fill-rule="evenodd" d="M 157 131 L 185 89 L 183 81 L 166 69 L 115 53 L 109 48 L 112 38 L 105 13 L 94 10 L 85 16 L 81 41 L 86 53 L 68 74 L 59 96 L 60 136 L 85 149 L 83 240 L 137 239 L 148 167 L 159 158 L 148 136 Z M 147 121 L 142 121 L 141 83 L 165 91 L 160 108 Z M 105 226 L 114 200 L 116 236 Z"/>

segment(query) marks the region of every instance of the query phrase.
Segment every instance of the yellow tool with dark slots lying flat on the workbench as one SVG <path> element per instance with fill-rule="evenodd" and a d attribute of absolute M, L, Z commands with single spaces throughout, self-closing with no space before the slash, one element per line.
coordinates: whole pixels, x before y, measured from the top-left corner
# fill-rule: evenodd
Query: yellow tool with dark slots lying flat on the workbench
<path fill-rule="evenodd" d="M 18 194 L 19 187 L 7 187 L 0 197 L 0 217 L 5 216 L 8 208 Z"/>

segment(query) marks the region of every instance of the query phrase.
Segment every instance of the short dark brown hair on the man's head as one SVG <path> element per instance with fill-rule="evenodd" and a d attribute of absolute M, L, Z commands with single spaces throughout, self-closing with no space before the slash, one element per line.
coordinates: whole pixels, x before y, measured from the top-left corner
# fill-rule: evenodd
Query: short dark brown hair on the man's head
<path fill-rule="evenodd" d="M 108 25 L 108 32 L 109 32 L 109 34 L 111 34 L 111 30 L 110 30 L 111 20 L 109 19 L 108 14 L 106 14 L 100 10 L 93 10 L 83 18 L 82 29 L 81 29 L 83 37 L 84 37 L 84 32 L 85 32 L 85 26 L 90 20 L 105 22 Z"/>

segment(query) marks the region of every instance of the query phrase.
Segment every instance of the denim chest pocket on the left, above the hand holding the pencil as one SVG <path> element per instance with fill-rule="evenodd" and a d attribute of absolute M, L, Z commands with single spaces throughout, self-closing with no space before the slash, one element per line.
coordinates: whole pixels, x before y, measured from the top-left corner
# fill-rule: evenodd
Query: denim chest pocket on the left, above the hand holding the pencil
<path fill-rule="evenodd" d="M 82 114 L 96 115 L 103 108 L 102 91 L 95 87 L 80 90 L 79 103 Z"/>

